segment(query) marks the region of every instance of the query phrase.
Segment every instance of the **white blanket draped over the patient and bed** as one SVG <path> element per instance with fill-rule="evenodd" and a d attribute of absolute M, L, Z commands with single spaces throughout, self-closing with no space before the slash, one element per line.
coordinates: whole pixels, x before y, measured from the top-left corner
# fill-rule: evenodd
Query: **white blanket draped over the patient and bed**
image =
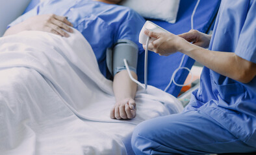
<path fill-rule="evenodd" d="M 136 118 L 110 119 L 112 81 L 86 39 L 70 35 L 0 38 L 0 154 L 133 154 L 135 125 L 183 109 L 170 94 L 139 87 Z"/>

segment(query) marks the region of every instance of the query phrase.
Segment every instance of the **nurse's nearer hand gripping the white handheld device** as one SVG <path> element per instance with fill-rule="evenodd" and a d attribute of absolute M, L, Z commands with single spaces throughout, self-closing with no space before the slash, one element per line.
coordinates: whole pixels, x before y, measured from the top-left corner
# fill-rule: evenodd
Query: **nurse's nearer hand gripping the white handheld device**
<path fill-rule="evenodd" d="M 169 56 L 170 54 L 179 51 L 181 42 L 185 41 L 183 38 L 172 33 L 159 33 L 146 30 L 145 34 L 155 39 L 155 41 L 149 43 L 148 50 L 151 50 L 160 56 Z M 146 45 L 143 45 L 143 48 L 145 49 Z"/>

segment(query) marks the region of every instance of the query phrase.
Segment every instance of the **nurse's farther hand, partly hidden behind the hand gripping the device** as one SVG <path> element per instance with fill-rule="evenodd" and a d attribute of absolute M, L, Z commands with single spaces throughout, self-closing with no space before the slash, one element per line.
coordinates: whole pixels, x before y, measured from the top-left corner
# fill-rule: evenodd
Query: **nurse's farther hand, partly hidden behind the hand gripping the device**
<path fill-rule="evenodd" d="M 204 34 L 202 32 L 199 32 L 198 30 L 190 30 L 189 32 L 180 34 L 178 36 L 183 37 L 186 41 L 203 48 L 209 47 L 212 37 L 211 35 Z"/>

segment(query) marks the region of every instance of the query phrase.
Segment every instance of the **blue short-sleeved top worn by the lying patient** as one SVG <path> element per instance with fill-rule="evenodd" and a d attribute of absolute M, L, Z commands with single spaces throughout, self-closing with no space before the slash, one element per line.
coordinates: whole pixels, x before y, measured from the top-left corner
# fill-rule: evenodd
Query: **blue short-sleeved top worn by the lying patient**
<path fill-rule="evenodd" d="M 92 0 L 48 0 L 37 5 L 9 26 L 42 14 L 68 17 L 68 21 L 92 46 L 99 69 L 107 78 L 110 78 L 110 73 L 105 59 L 106 49 L 112 47 L 118 39 L 129 39 L 138 45 L 140 52 L 144 50 L 138 43 L 138 36 L 145 19 L 125 6 Z"/>

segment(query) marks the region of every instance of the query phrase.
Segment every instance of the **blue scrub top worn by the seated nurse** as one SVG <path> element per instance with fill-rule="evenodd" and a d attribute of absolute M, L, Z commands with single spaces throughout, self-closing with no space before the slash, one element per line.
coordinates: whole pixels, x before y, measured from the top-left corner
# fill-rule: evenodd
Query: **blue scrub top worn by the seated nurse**
<path fill-rule="evenodd" d="M 256 1 L 222 0 L 209 50 L 235 52 L 256 63 Z M 240 83 L 203 68 L 201 86 L 185 110 L 201 110 L 256 147 L 256 77 Z M 218 134 L 218 133 L 212 133 Z"/>

